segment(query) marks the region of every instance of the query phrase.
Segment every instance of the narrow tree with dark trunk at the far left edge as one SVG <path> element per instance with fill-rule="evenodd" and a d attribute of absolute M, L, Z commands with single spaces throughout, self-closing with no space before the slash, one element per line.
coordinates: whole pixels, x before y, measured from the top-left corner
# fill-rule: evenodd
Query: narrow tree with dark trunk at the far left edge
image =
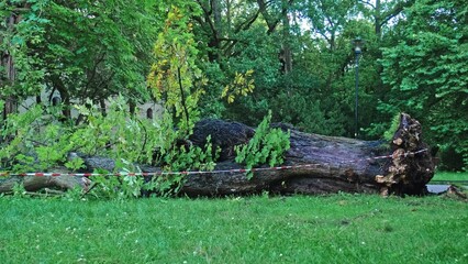
<path fill-rule="evenodd" d="M 41 43 L 44 24 L 41 13 L 45 0 L 2 1 L 0 3 L 0 99 L 4 100 L 2 119 L 14 112 L 20 100 L 40 90 L 44 72 L 37 53 L 30 48 Z"/>

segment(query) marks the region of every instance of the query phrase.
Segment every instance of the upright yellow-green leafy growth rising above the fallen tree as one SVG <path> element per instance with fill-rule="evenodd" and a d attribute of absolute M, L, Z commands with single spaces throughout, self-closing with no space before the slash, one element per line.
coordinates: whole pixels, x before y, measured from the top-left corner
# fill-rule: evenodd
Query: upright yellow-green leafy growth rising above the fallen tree
<path fill-rule="evenodd" d="M 183 136 L 191 133 L 199 119 L 198 101 L 205 81 L 196 65 L 198 50 L 187 12 L 177 7 L 169 9 L 154 46 L 156 62 L 148 76 L 156 100 L 163 100 Z"/>

